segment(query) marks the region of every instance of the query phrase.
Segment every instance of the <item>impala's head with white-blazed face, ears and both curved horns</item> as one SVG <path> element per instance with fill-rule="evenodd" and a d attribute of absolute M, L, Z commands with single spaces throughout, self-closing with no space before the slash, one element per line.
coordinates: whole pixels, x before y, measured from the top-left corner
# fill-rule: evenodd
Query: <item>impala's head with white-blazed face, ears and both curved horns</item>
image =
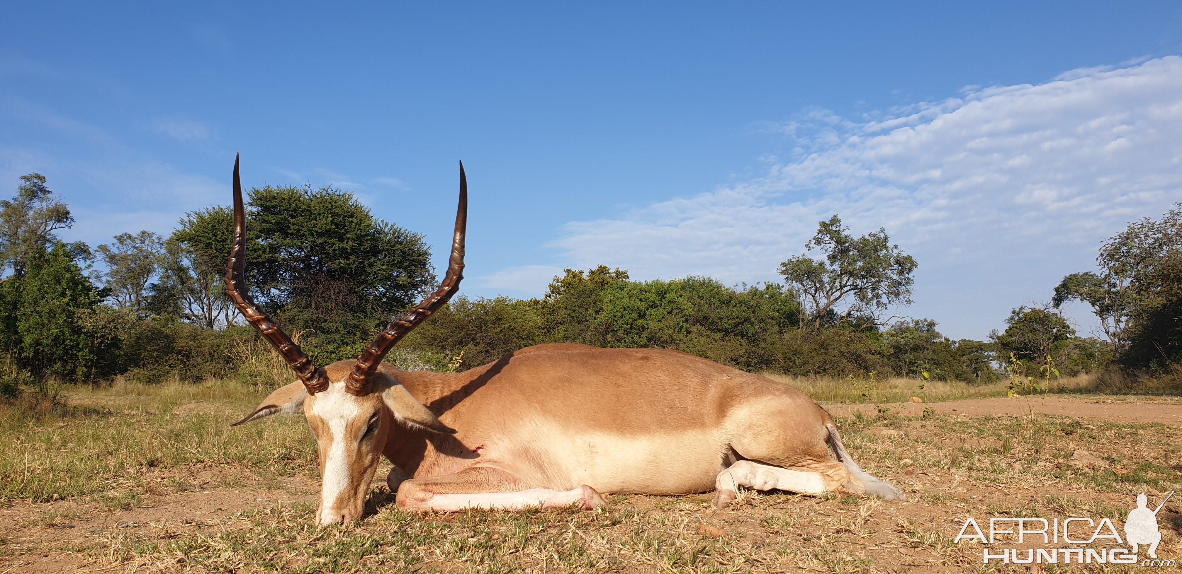
<path fill-rule="evenodd" d="M 287 360 L 300 380 L 277 389 L 262 404 L 234 423 L 238 426 L 277 412 L 303 407 L 320 454 L 320 526 L 362 516 L 365 495 L 385 446 L 400 428 L 417 426 L 441 433 L 454 430 L 441 423 L 405 387 L 378 366 L 407 333 L 427 320 L 460 288 L 463 279 L 463 234 L 468 217 L 468 185 L 460 164 L 460 207 L 455 216 L 452 259 L 440 288 L 417 307 L 395 319 L 357 360 L 317 367 L 246 292 L 246 213 L 238 158 L 234 159 L 234 242 L 226 266 L 226 294 L 246 320 Z"/>

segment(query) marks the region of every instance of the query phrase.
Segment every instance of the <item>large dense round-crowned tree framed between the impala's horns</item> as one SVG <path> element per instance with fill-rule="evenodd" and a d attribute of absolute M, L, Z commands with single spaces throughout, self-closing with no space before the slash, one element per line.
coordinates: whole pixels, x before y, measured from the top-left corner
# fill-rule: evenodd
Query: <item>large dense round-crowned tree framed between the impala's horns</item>
<path fill-rule="evenodd" d="M 317 360 L 350 357 L 435 282 L 422 235 L 374 217 L 352 194 L 265 187 L 249 197 L 255 299 L 293 331 L 316 330 Z"/>

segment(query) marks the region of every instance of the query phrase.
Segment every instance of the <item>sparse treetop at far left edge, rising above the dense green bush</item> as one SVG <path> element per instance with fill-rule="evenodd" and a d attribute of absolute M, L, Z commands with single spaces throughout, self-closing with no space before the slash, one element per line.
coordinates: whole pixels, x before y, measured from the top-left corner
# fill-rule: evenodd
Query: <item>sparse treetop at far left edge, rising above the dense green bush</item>
<path fill-rule="evenodd" d="M 56 240 L 53 231 L 73 227 L 70 208 L 45 184 L 41 174 L 20 176 L 17 196 L 0 201 L 0 270 L 25 273 L 31 257 Z M 80 246 L 73 246 L 78 250 Z"/>

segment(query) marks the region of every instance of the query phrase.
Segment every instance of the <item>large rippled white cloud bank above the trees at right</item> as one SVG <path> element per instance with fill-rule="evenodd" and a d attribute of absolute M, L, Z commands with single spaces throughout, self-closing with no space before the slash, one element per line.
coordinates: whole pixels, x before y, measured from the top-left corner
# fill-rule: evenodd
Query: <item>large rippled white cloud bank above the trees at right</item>
<path fill-rule="evenodd" d="M 864 123 L 812 110 L 780 131 L 797 149 L 766 176 L 572 222 L 553 246 L 635 279 L 755 282 L 836 213 L 916 255 L 909 313 L 983 337 L 1090 268 L 1102 239 L 1182 201 L 1182 58 L 968 89 Z"/>

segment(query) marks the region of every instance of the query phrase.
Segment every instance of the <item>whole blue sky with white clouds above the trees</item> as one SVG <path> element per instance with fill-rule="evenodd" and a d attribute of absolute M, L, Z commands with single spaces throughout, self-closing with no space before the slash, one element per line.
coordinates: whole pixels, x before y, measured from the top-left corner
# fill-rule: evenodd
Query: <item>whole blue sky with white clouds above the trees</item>
<path fill-rule="evenodd" d="M 1177 54 L 1177 2 L 5 2 L 0 182 L 46 175 L 97 244 L 226 203 L 241 152 L 442 267 L 463 159 L 479 296 L 775 280 L 837 213 L 918 260 L 903 314 L 983 338 L 1182 201 Z"/>

